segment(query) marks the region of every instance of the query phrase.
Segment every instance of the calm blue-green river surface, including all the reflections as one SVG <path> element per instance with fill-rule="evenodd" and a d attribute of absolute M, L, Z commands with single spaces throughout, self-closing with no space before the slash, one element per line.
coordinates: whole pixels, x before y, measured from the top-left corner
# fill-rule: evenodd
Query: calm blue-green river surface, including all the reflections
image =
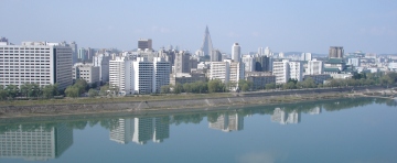
<path fill-rule="evenodd" d="M 396 106 L 357 98 L 161 116 L 0 119 L 0 162 L 397 162 Z"/>

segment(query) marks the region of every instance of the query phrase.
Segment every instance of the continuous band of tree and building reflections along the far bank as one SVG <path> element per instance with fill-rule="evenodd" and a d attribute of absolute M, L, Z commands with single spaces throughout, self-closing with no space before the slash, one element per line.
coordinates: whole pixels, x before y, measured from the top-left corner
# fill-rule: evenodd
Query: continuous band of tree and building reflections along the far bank
<path fill-rule="evenodd" d="M 153 116 L 84 116 L 65 120 L 49 120 L 43 117 L 0 119 L 0 159 L 23 159 L 26 161 L 52 160 L 62 155 L 73 144 L 73 130 L 99 124 L 109 131 L 109 140 L 120 144 L 147 144 L 164 142 L 170 138 L 170 126 L 200 123 L 205 118 L 208 129 L 223 132 L 244 130 L 245 119 L 254 115 L 269 115 L 269 121 L 280 124 L 298 124 L 302 113 L 320 115 L 325 111 L 351 109 L 372 104 L 397 106 L 393 99 L 337 99 L 318 102 L 299 102 L 275 106 L 230 107 L 206 111 L 180 112 Z M 49 122 L 51 121 L 51 122 Z"/>

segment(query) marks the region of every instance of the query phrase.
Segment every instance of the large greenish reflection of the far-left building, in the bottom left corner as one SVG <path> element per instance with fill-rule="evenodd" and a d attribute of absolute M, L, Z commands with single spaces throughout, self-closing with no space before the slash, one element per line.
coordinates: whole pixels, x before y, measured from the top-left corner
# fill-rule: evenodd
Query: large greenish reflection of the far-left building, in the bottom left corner
<path fill-rule="evenodd" d="M 17 129 L 0 134 L 1 159 L 45 161 L 61 156 L 73 144 L 73 129 L 65 124 Z"/>

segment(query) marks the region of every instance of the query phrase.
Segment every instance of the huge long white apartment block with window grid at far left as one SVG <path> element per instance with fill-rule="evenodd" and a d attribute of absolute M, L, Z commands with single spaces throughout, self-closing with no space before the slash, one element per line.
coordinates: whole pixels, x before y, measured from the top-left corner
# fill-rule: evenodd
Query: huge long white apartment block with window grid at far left
<path fill-rule="evenodd" d="M 47 42 L 22 42 L 10 45 L 0 42 L 0 85 L 58 84 L 65 89 L 73 84 L 72 48 Z"/>

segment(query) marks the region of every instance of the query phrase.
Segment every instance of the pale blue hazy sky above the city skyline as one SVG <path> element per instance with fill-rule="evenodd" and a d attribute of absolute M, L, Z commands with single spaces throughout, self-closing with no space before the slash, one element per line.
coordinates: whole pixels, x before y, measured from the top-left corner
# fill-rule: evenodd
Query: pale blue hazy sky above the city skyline
<path fill-rule="evenodd" d="M 0 36 L 76 41 L 79 47 L 179 45 L 195 52 L 208 25 L 213 45 L 230 53 L 397 53 L 397 0 L 1 0 Z"/>

